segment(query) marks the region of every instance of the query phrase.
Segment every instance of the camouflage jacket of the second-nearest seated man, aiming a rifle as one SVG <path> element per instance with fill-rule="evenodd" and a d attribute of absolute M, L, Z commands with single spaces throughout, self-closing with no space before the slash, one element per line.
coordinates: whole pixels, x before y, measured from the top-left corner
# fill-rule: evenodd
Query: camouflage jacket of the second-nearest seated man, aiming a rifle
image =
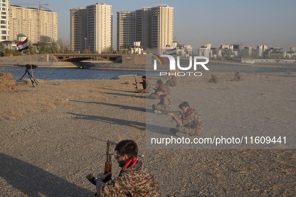
<path fill-rule="evenodd" d="M 203 119 L 201 115 L 193 109 L 193 111 L 189 112 L 186 117 L 182 115 L 181 117 L 182 123 L 180 122 L 180 126 L 188 126 L 191 128 L 198 128 L 203 130 Z"/>

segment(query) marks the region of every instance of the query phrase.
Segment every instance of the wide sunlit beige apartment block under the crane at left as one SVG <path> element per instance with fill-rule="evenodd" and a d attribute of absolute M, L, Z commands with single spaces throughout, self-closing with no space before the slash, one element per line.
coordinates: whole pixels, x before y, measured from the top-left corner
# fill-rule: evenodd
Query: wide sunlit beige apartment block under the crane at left
<path fill-rule="evenodd" d="M 9 21 L 9 40 L 24 41 L 26 37 L 32 43 L 58 40 L 57 12 L 11 5 Z"/>

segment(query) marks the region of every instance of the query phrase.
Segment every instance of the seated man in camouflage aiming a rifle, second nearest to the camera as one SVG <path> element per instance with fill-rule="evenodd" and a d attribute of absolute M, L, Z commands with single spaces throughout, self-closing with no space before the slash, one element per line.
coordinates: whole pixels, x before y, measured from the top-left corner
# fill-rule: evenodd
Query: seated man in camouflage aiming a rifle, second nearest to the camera
<path fill-rule="evenodd" d="M 183 112 L 183 114 L 179 114 L 179 118 L 182 122 L 180 122 L 173 113 L 167 113 L 167 115 L 172 116 L 177 122 L 176 135 L 200 135 L 203 131 L 203 119 L 201 115 L 193 108 L 190 108 L 186 101 L 182 102 L 179 108 Z"/>

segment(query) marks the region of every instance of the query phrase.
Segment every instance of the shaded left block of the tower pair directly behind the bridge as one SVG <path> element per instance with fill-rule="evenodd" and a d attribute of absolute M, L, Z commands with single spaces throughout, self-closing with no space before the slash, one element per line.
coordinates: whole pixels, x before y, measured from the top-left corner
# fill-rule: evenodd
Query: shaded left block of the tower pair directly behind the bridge
<path fill-rule="evenodd" d="M 78 7 L 70 9 L 71 21 L 71 49 L 83 51 L 87 49 L 86 37 L 86 8 Z"/>

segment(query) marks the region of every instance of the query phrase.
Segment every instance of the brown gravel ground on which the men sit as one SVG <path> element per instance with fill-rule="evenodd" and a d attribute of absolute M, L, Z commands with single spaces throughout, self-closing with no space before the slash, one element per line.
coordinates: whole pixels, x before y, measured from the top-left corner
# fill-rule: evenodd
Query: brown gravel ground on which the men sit
<path fill-rule="evenodd" d="M 172 87 L 173 103 L 189 99 L 203 115 L 204 133 L 295 130 L 295 74 L 242 73 L 238 82 L 227 80 L 232 72 L 215 74 L 218 84 L 207 83 L 206 73 L 197 84 L 184 79 Z M 127 138 L 138 143 L 139 159 L 158 178 L 162 196 L 296 193 L 296 151 L 285 146 L 148 149 L 145 114 L 153 113 L 146 113 L 146 105 L 158 101 L 146 103 L 144 94 L 134 93 L 134 76 L 39 81 L 35 88 L 19 84 L 0 92 L 0 195 L 92 196 L 95 188 L 85 175 L 103 170 L 107 139 Z M 180 89 L 200 93 L 178 97 Z M 155 116 L 163 117 L 167 128 L 174 126 L 167 116 Z M 113 173 L 119 170 L 114 160 Z"/>

